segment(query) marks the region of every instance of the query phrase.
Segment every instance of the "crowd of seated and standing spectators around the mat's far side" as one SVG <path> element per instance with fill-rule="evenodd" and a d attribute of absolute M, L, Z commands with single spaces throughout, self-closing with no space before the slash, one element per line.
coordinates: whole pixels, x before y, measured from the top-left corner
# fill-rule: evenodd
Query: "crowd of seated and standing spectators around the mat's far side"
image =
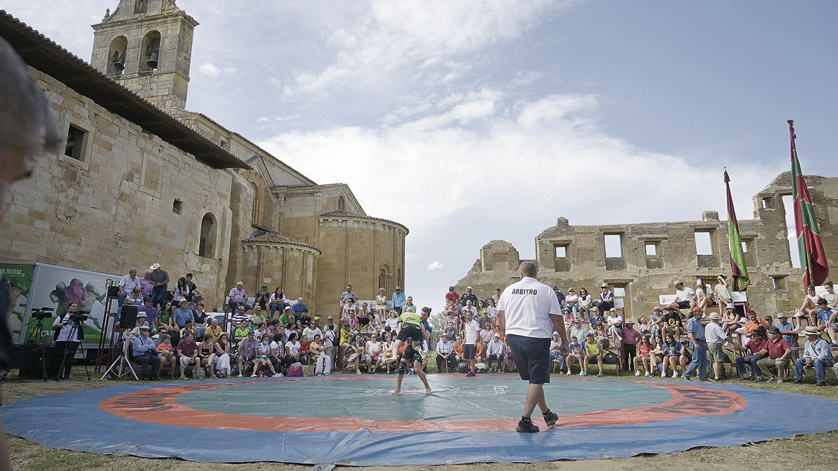
<path fill-rule="evenodd" d="M 569 353 L 562 355 L 554 333 L 554 371 L 603 376 L 604 365 L 616 363 L 618 372 L 635 376 L 719 381 L 729 376 L 726 366 L 735 366 L 739 378 L 782 382 L 792 368 L 794 382 L 801 382 L 810 366 L 815 368 L 816 384 L 825 384 L 825 369 L 834 365 L 830 347 L 838 347 L 831 282 L 825 283 L 823 297 L 809 287 L 798 312 L 792 318 L 778 313 L 774 322 L 771 316 L 759 318 L 732 303 L 726 277 L 717 281 L 711 290 L 701 280 L 695 289 L 679 280 L 671 303 L 636 319 L 624 318 L 623 309 L 615 307 L 607 283 L 600 286 L 597 298 L 585 287 L 578 292 L 571 287 L 566 294 L 553 287 L 570 339 Z M 303 371 L 329 375 L 333 368 L 358 375 L 390 374 L 397 365 L 392 344 L 401 327 L 399 315 L 417 310 L 401 287 L 390 297 L 380 288 L 375 300 L 362 302 L 347 285 L 338 297 L 338 313 L 316 314 L 309 312 L 303 298 L 288 298 L 282 287 L 269 291 L 263 286 L 250 296 L 238 282 L 219 316 L 204 311 L 203 292 L 191 273 L 179 277 L 170 292 L 168 282 L 168 273 L 154 264 L 142 278 L 132 268 L 119 283 L 119 308 L 139 308 L 130 344 L 146 379 L 158 379 L 166 367 L 170 377 L 180 380 L 188 373 L 194 378 L 280 377 Z M 500 293 L 498 288 L 481 299 L 472 287 L 462 294 L 449 287 L 437 314 L 441 329 L 435 334 L 429 321 L 432 309 L 422 308 L 422 321 L 432 333 L 431 341 L 422 340 L 422 367 L 433 360 L 442 373 L 515 371 L 495 315 Z M 802 346 L 799 337 L 806 337 Z"/>

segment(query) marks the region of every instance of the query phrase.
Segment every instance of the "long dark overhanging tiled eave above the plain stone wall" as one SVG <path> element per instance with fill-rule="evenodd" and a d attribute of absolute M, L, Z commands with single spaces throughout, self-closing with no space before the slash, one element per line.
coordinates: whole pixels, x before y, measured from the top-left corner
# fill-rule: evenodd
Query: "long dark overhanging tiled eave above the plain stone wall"
<path fill-rule="evenodd" d="M 5 10 L 0 10 L 0 36 L 12 44 L 26 64 L 60 80 L 107 111 L 156 134 L 175 148 L 194 155 L 209 167 L 251 169 L 240 158 L 215 145 L 199 132 L 96 70 Z"/>

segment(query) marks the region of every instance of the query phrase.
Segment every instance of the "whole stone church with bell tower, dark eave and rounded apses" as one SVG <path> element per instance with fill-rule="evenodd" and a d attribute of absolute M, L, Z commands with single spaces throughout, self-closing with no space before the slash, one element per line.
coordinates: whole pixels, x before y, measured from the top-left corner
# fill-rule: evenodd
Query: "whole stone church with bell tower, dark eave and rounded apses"
<path fill-rule="evenodd" d="M 174 0 L 120 0 L 91 63 L 0 12 L 0 35 L 44 88 L 65 146 L 13 186 L 0 260 L 193 272 L 219 307 L 237 281 L 336 312 L 404 285 L 404 225 L 365 213 L 209 116 L 186 110 L 194 28 Z M 172 285 L 170 285 L 171 287 Z"/>

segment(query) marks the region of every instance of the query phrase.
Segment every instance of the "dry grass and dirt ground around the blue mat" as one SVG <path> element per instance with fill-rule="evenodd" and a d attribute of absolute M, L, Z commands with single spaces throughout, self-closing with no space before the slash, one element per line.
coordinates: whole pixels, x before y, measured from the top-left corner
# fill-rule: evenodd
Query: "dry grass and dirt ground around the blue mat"
<path fill-rule="evenodd" d="M 9 376 L 16 375 L 13 371 Z M 4 381 L 0 386 L 0 405 L 23 400 L 27 397 L 55 394 L 65 391 L 79 391 L 97 387 L 114 386 L 113 382 L 100 383 L 96 381 L 98 376 L 93 375 L 93 380 L 86 380 L 84 368 L 74 368 L 71 380 L 42 382 L 40 380 L 19 380 L 14 377 Z M 838 400 L 838 388 L 834 383 L 825 388 L 818 388 L 811 384 L 791 385 L 784 384 L 755 384 L 749 381 L 732 381 L 734 384 L 759 387 L 773 391 L 797 392 L 823 396 Z M 794 406 L 789 404 L 789 406 Z M 816 419 L 815 419 L 816 420 Z M 766 424 L 766 427 L 782 427 L 781 423 Z M 174 470 L 250 470 L 250 469 L 280 469 L 280 470 L 303 470 L 311 469 L 310 466 L 297 466 L 281 463 L 242 463 L 242 464 L 218 464 L 218 463 L 193 463 L 178 459 L 159 458 L 135 458 L 128 456 L 97 455 L 93 453 L 79 453 L 67 450 L 56 450 L 44 448 L 35 443 L 28 442 L 18 437 L 8 435 L 9 455 L 12 460 L 13 469 L 33 470 L 106 470 L 106 469 L 137 469 L 151 471 L 158 469 Z M 419 470 L 490 470 L 490 471 L 518 471 L 530 469 L 570 469 L 570 470 L 613 470 L 641 468 L 644 470 L 667 470 L 684 468 L 701 469 L 835 469 L 832 450 L 838 446 L 838 431 L 793 437 L 784 440 L 773 440 L 765 443 L 748 444 L 742 447 L 728 448 L 696 448 L 682 453 L 671 453 L 666 455 L 643 456 L 634 458 L 616 458 L 587 461 L 556 461 L 548 463 L 476 463 L 466 465 L 441 465 L 441 466 L 407 466 L 401 467 L 399 463 L 392 463 L 394 467 L 411 471 Z M 338 467 L 341 468 L 341 467 Z M 365 470 L 391 470 L 393 468 L 347 468 Z"/>

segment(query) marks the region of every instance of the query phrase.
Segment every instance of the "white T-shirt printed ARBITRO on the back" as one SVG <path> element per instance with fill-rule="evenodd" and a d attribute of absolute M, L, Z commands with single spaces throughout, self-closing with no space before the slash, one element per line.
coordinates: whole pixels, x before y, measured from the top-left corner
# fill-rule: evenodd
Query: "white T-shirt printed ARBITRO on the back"
<path fill-rule="evenodd" d="M 553 288 L 535 278 L 523 277 L 504 289 L 498 310 L 504 312 L 506 334 L 550 339 L 550 314 L 561 314 L 561 305 Z"/>

